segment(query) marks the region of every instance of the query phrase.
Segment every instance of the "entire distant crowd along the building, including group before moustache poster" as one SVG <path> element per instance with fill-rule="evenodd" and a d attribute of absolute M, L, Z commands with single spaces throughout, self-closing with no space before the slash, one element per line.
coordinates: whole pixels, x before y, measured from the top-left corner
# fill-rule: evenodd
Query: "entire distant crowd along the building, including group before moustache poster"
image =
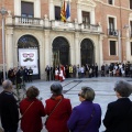
<path fill-rule="evenodd" d="M 91 77 L 132 77 L 132 64 L 130 62 L 123 63 L 111 63 L 101 65 L 100 69 L 98 68 L 98 64 L 85 64 L 85 65 L 58 65 L 58 66 L 50 66 L 45 67 L 45 78 L 47 81 L 50 80 L 59 80 L 63 81 L 65 78 L 91 78 Z M 32 81 L 33 69 L 24 67 L 14 67 L 10 68 L 6 76 L 10 79 L 13 85 Z M 0 70 L 0 85 L 3 81 L 3 70 Z"/>

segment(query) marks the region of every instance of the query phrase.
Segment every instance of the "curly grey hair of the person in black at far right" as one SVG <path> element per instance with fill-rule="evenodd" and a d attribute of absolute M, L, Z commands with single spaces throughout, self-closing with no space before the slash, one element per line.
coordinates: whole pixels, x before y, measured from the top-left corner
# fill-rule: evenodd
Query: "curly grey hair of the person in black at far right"
<path fill-rule="evenodd" d="M 119 80 L 114 85 L 114 91 L 120 94 L 121 97 L 129 97 L 132 94 L 132 85 L 124 80 Z"/>

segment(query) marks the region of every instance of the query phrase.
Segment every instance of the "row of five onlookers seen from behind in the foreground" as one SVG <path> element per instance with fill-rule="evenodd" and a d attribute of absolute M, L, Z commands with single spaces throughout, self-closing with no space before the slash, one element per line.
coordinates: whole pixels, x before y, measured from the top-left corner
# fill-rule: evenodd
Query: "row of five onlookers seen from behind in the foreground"
<path fill-rule="evenodd" d="M 51 85 L 51 97 L 45 100 L 45 107 L 37 99 L 38 89 L 34 86 L 26 90 L 24 98 L 18 107 L 12 94 L 12 82 L 2 82 L 3 91 L 0 94 L 0 118 L 4 132 L 16 132 L 19 120 L 23 132 L 41 132 L 43 125 L 48 132 L 99 132 L 101 125 L 101 107 L 94 103 L 95 90 L 82 87 L 78 94 L 80 105 L 72 108 L 70 100 L 63 96 L 63 87 L 56 81 Z M 116 84 L 117 100 L 110 102 L 102 120 L 105 132 L 132 132 L 132 85 L 120 80 Z M 19 109 L 21 118 L 19 117 Z M 43 124 L 42 117 L 46 121 Z"/>

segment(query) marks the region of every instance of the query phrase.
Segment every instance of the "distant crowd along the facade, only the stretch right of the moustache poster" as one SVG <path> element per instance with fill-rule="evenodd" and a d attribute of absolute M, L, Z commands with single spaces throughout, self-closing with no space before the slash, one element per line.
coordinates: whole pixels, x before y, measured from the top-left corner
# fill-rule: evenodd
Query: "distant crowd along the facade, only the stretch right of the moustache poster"
<path fill-rule="evenodd" d="M 91 77 L 132 77 L 132 64 L 129 62 L 123 63 L 111 63 L 101 65 L 101 68 L 98 68 L 98 64 L 95 65 L 59 65 L 56 67 L 46 66 L 46 80 L 61 80 L 65 78 L 91 78 Z"/>

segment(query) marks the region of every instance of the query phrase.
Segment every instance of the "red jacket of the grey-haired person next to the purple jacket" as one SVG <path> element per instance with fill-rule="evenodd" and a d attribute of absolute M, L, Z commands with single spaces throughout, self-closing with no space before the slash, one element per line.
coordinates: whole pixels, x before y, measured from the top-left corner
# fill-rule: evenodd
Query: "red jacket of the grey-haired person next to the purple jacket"
<path fill-rule="evenodd" d="M 52 112 L 55 106 L 59 100 L 55 100 L 53 98 L 47 99 L 45 112 L 47 116 Z M 69 99 L 65 99 L 63 97 L 62 102 L 57 106 L 55 111 L 51 114 L 46 122 L 46 129 L 48 132 L 69 132 L 67 128 L 67 120 L 69 119 L 72 113 L 72 105 Z"/>

